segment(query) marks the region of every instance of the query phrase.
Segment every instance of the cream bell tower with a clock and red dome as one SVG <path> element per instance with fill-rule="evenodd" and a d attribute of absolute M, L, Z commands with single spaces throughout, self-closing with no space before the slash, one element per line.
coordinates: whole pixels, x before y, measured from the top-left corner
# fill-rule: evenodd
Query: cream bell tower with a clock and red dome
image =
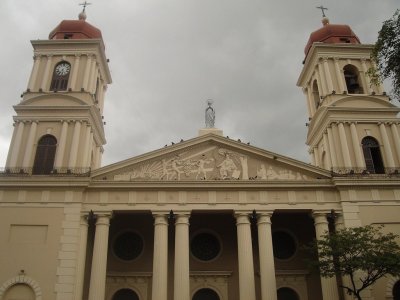
<path fill-rule="evenodd" d="M 111 83 L 101 31 L 64 20 L 47 40 L 31 41 L 34 63 L 22 101 L 6 171 L 45 175 L 100 167 L 104 94 Z"/>

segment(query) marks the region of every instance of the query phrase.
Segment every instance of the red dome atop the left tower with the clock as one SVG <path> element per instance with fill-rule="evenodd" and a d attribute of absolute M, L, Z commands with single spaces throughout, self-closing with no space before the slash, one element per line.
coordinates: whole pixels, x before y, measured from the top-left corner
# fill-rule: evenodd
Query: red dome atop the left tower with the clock
<path fill-rule="evenodd" d="M 64 20 L 49 34 L 50 40 L 101 38 L 101 31 L 83 19 Z"/>

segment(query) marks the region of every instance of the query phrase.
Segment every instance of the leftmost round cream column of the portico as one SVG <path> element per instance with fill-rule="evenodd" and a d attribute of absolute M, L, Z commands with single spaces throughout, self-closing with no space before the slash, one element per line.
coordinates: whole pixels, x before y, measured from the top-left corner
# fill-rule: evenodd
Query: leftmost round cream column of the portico
<path fill-rule="evenodd" d="M 97 215 L 92 270 L 90 273 L 89 300 L 102 300 L 105 297 L 110 218 L 111 214 Z"/>

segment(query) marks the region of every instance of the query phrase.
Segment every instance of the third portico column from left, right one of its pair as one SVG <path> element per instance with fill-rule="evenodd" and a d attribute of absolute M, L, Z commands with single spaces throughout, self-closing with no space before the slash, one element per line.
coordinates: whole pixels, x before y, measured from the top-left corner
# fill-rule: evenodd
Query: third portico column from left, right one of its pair
<path fill-rule="evenodd" d="M 189 213 L 175 216 L 174 300 L 190 299 Z"/>

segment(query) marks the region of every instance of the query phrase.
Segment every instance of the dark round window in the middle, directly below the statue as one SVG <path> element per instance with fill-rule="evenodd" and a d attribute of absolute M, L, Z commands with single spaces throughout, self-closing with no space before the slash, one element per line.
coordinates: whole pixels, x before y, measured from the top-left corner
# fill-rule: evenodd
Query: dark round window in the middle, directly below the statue
<path fill-rule="evenodd" d="M 192 239 L 190 251 L 194 257 L 203 261 L 209 261 L 218 256 L 221 251 L 221 245 L 217 237 L 210 233 L 202 232 Z"/>

